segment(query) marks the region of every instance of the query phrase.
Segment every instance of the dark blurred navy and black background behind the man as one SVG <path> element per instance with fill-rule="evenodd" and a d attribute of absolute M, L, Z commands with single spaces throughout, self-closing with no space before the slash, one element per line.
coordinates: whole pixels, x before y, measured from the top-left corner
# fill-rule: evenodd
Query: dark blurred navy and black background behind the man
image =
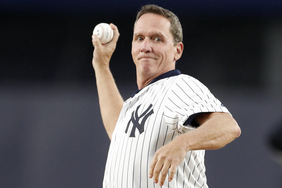
<path fill-rule="evenodd" d="M 177 69 L 204 83 L 241 127 L 234 142 L 206 151 L 209 187 L 282 187 L 268 142 L 282 125 L 278 0 L 1 0 L 0 187 L 102 187 L 110 140 L 91 35 L 101 22 L 117 25 L 110 67 L 126 100 L 137 89 L 132 28 L 145 4 L 179 17 L 184 53 Z"/>

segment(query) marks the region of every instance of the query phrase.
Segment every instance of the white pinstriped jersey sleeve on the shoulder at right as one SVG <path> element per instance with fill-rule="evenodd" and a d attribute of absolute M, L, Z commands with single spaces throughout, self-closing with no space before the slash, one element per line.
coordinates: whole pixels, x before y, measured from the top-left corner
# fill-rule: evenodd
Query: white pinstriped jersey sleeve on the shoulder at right
<path fill-rule="evenodd" d="M 185 133 L 196 129 L 194 117 L 206 112 L 229 113 L 199 80 L 188 75 L 177 78 L 165 102 L 164 120 L 167 125 L 175 132 Z"/>

